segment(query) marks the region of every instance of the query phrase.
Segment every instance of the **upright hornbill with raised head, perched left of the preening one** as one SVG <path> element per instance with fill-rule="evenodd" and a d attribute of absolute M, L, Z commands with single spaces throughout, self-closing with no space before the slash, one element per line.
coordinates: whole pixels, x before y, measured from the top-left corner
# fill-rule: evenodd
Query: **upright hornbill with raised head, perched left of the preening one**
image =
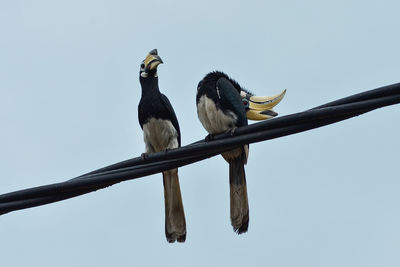
<path fill-rule="evenodd" d="M 168 98 L 158 88 L 157 67 L 163 63 L 154 49 L 140 66 L 142 97 L 138 114 L 146 154 L 181 146 L 178 120 Z M 146 155 L 144 154 L 144 155 Z M 165 235 L 168 242 L 185 242 L 186 222 L 179 187 L 178 169 L 163 172 Z"/>

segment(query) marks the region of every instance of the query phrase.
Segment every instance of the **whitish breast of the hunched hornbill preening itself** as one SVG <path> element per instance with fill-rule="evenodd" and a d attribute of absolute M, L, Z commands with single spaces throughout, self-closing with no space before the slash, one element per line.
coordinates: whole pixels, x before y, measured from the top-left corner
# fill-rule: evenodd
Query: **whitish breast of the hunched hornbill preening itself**
<path fill-rule="evenodd" d="M 223 111 L 206 95 L 200 97 L 197 103 L 197 113 L 203 127 L 210 134 L 223 133 L 232 129 L 237 116 L 230 110 Z"/>

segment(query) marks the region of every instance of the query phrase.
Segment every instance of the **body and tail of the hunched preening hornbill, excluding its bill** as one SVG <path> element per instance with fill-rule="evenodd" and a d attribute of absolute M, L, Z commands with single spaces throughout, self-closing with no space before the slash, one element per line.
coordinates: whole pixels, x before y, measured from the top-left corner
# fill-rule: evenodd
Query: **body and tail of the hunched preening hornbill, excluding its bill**
<path fill-rule="evenodd" d="M 199 82 L 196 103 L 197 114 L 207 132 L 213 134 L 231 132 L 247 125 L 246 109 L 240 96 L 240 85 L 222 72 L 211 72 Z M 244 145 L 222 153 L 229 163 L 230 213 L 233 230 L 247 232 L 249 204 L 247 200 L 246 174 L 249 146 Z"/>

